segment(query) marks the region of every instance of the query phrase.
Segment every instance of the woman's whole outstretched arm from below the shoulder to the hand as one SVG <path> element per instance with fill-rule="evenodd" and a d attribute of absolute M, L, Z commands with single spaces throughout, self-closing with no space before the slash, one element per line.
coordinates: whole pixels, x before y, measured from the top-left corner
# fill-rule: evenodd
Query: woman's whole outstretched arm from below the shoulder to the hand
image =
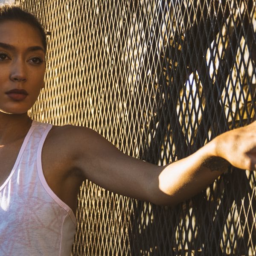
<path fill-rule="evenodd" d="M 228 162 L 256 169 L 256 122 L 221 134 L 189 157 L 166 166 L 129 157 L 88 128 L 67 126 L 64 133 L 74 169 L 83 179 L 154 204 L 175 205 L 191 198 L 221 175 Z"/>

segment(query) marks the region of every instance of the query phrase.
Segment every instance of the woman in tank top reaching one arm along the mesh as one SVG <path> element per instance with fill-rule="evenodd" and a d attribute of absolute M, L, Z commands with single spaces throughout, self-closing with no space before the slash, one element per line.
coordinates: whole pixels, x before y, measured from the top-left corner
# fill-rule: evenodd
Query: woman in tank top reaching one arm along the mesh
<path fill-rule="evenodd" d="M 175 205 L 221 175 L 220 161 L 256 168 L 256 122 L 155 166 L 121 153 L 88 128 L 32 121 L 27 111 L 44 87 L 46 52 L 34 16 L 17 6 L 0 8 L 0 255 L 70 255 L 73 212 L 85 179 L 121 195 Z"/>

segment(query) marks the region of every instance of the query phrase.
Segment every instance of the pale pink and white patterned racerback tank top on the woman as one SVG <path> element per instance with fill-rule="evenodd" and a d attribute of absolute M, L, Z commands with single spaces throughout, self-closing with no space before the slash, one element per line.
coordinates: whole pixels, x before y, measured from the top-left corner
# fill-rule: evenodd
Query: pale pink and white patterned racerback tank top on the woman
<path fill-rule="evenodd" d="M 41 152 L 50 124 L 33 121 L 0 186 L 0 255 L 70 256 L 76 217 L 49 188 Z"/>

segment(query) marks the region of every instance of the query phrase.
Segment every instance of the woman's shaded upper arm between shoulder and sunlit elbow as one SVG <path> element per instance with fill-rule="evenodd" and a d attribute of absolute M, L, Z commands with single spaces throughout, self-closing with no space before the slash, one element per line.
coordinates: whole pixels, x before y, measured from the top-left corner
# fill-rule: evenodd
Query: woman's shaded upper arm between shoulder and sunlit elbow
<path fill-rule="evenodd" d="M 159 166 L 122 153 L 89 128 L 69 125 L 66 130 L 73 166 L 84 179 L 111 192 L 150 201 L 152 180 L 159 174 Z"/>

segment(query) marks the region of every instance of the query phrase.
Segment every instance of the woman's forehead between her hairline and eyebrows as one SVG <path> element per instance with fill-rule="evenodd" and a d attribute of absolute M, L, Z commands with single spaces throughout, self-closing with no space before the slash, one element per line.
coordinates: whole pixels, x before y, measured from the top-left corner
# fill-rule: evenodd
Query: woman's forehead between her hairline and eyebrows
<path fill-rule="evenodd" d="M 0 23 L 0 41 L 1 43 L 11 44 L 15 48 L 43 47 L 38 29 L 28 23 L 16 20 L 7 20 Z"/>

